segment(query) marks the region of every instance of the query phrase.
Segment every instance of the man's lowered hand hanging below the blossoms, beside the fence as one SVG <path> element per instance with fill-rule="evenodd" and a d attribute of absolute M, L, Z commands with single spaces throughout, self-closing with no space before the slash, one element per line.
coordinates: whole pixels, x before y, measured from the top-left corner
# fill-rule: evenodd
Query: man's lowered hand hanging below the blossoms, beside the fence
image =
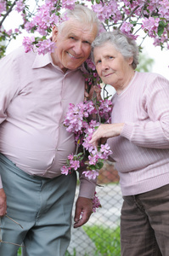
<path fill-rule="evenodd" d="M 81 227 L 83 224 L 87 223 L 92 212 L 93 200 L 86 197 L 78 197 L 76 201 L 74 228 Z"/>

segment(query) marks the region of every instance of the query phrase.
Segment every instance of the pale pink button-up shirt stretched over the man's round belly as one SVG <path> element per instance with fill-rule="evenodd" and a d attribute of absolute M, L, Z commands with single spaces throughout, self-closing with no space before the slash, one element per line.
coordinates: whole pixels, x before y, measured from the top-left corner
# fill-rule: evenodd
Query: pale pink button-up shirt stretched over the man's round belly
<path fill-rule="evenodd" d="M 75 151 L 63 121 L 69 103 L 83 101 L 82 70 L 63 73 L 49 54 L 20 48 L 0 61 L 0 78 L 0 152 L 28 174 L 59 176 Z M 81 178 L 80 195 L 92 197 L 94 182 Z"/>

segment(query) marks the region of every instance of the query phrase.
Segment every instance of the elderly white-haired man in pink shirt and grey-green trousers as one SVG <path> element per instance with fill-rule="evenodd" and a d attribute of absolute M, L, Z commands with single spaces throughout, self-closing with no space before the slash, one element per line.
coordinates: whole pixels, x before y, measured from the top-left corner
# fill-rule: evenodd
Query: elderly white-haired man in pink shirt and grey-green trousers
<path fill-rule="evenodd" d="M 61 175 L 74 136 L 63 121 L 69 103 L 82 102 L 82 63 L 90 55 L 99 20 L 86 7 L 66 11 L 54 26 L 51 55 L 14 50 L 0 61 L 0 216 L 2 240 L 25 245 L 25 255 L 63 256 L 70 242 L 76 173 Z M 80 172 L 75 224 L 92 213 L 95 182 Z M 14 218 L 23 229 L 7 218 Z M 1 243 L 1 256 L 18 247 Z"/>

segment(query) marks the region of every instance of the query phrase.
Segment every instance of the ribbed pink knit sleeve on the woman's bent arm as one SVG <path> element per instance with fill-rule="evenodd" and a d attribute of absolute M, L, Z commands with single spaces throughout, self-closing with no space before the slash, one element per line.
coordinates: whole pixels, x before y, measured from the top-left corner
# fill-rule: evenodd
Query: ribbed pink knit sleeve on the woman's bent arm
<path fill-rule="evenodd" d="M 121 137 L 141 147 L 169 148 L 169 81 L 157 76 L 144 90 L 141 102 L 147 118 L 125 123 Z"/>

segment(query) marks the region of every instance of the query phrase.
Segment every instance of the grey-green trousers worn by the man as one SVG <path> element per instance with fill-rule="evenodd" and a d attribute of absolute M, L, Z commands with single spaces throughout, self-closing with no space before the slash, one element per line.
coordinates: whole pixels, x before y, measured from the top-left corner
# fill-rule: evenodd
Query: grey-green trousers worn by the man
<path fill-rule="evenodd" d="M 34 177 L 0 154 L 0 173 L 7 195 L 7 217 L 1 219 L 2 240 L 24 244 L 26 256 L 64 256 L 70 243 L 76 172 L 55 178 Z M 16 256 L 17 246 L 0 243 L 1 256 Z"/>

